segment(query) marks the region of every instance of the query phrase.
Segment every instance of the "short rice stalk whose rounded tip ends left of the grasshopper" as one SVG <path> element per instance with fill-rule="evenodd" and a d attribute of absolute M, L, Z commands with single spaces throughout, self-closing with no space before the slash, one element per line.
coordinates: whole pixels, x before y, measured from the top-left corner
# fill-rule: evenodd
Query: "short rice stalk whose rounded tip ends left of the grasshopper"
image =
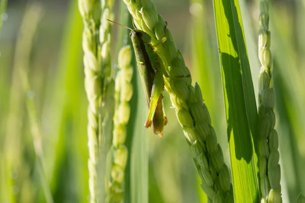
<path fill-rule="evenodd" d="M 130 118 L 129 101 L 133 95 L 131 59 L 130 45 L 121 48 L 118 53 L 119 71 L 115 78 L 112 181 L 106 202 L 123 202 L 124 198 L 125 168 L 128 157 L 128 149 L 125 146 L 126 125 Z"/>

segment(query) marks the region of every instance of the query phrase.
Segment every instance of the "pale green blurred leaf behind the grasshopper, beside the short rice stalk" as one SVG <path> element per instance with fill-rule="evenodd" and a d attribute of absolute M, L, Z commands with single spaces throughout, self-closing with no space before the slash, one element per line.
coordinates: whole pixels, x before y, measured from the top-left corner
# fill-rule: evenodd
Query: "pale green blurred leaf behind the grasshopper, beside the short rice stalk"
<path fill-rule="evenodd" d="M 133 27 L 131 15 L 129 14 L 125 3 L 121 1 L 119 23 Z M 118 39 L 120 45 L 132 45 L 129 38 L 129 30 L 117 26 L 119 30 Z M 127 124 L 127 138 L 125 145 L 128 148 L 128 159 L 125 170 L 125 203 L 148 202 L 148 135 L 150 129 L 144 127 L 144 121 L 148 113 L 145 103 L 145 96 L 137 70 L 135 55 L 131 62 L 134 72 L 132 77 L 133 96 L 130 100 L 130 120 Z"/>

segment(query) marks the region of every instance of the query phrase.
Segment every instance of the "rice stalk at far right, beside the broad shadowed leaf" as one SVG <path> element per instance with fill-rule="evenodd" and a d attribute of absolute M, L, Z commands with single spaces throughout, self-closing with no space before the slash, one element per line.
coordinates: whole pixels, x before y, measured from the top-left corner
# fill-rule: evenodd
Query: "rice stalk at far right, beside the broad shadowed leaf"
<path fill-rule="evenodd" d="M 260 1 L 260 30 L 258 32 L 259 74 L 259 167 L 261 202 L 282 202 L 279 136 L 275 129 L 275 93 L 273 91 L 272 55 L 270 51 L 269 1 Z"/>

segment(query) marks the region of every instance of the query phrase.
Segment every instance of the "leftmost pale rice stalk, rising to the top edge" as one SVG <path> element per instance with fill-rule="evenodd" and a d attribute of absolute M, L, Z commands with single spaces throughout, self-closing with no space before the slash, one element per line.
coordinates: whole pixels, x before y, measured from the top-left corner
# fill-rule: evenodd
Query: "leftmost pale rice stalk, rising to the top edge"
<path fill-rule="evenodd" d="M 108 184 L 107 155 L 111 145 L 114 81 L 111 79 L 110 40 L 113 1 L 79 0 L 83 18 L 85 90 L 88 105 L 90 202 L 102 202 Z"/>

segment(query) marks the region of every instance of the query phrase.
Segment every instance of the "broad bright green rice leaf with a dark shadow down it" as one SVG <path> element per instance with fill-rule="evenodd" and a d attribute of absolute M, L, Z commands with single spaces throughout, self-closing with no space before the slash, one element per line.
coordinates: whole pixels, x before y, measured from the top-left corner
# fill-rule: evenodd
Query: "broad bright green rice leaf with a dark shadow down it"
<path fill-rule="evenodd" d="M 239 3 L 214 0 L 214 9 L 234 199 L 259 202 L 257 110 Z"/>

